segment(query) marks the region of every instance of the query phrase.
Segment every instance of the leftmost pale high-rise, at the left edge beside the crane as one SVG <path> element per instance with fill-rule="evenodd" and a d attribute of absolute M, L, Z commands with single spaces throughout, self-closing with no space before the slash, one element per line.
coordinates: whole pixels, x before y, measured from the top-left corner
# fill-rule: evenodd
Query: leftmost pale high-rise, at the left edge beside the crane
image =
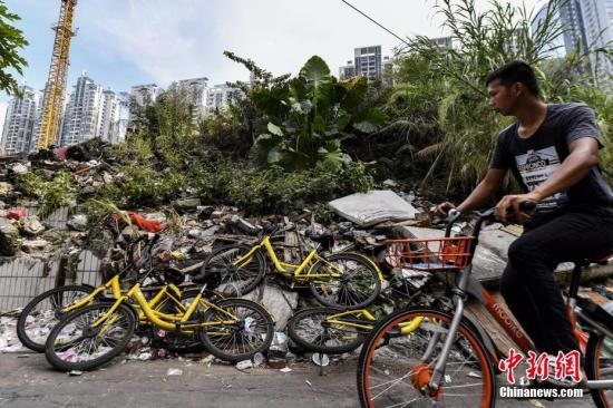
<path fill-rule="evenodd" d="M 35 132 L 40 96 L 31 87 L 20 87 L 22 97 L 9 101 L 2 132 L 2 152 L 12 155 L 29 152 Z"/>

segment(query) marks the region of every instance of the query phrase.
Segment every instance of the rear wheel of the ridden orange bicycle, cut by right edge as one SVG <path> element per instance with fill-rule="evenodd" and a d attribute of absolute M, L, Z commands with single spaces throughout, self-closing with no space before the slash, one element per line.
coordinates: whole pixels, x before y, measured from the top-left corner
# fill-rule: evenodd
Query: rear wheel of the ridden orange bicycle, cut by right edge
<path fill-rule="evenodd" d="M 585 373 L 591 380 L 613 380 L 613 339 L 590 334 L 585 350 Z M 591 389 L 592 399 L 599 408 L 613 407 L 613 390 Z"/>

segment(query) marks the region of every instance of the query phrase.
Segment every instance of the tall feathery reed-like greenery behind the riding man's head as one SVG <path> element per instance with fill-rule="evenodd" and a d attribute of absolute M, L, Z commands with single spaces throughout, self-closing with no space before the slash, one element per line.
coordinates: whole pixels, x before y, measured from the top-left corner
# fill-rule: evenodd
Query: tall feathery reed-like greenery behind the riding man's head
<path fill-rule="evenodd" d="M 590 74 L 578 69 L 591 54 L 603 50 L 571 52 L 560 69 L 546 69 L 555 50 L 553 40 L 565 29 L 555 17 L 558 1 L 549 2 L 536 30 L 532 29 L 534 11 L 499 0 L 493 0 L 490 6 L 486 11 L 478 11 L 475 0 L 440 0 L 436 10 L 445 19 L 444 27 L 450 32 L 454 47 L 441 48 L 427 37 L 418 36 L 401 51 L 406 58 L 417 55 L 429 61 L 428 76 L 439 93 L 436 125 L 440 138 L 421 152 L 434 158 L 422 185 L 440 169 L 447 177 L 448 188 L 463 185 L 471 190 L 486 172 L 497 132 L 508 125 L 510 118 L 489 109 L 484 80 L 504 64 L 523 60 L 532 65 L 547 101 L 607 105 Z M 410 85 L 413 82 L 417 86 L 406 89 L 409 95 L 431 90 L 420 87 L 419 80 L 409 80 Z M 428 96 L 417 94 L 405 100 Z M 595 108 L 599 111 L 599 107 Z M 609 120 L 599 116 L 601 122 Z M 454 184 L 454 181 L 460 183 Z"/>

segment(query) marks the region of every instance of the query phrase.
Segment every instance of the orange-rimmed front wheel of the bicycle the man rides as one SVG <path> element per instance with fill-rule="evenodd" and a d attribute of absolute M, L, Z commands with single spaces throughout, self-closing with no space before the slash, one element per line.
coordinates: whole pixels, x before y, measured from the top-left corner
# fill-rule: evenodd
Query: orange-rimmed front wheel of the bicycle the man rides
<path fill-rule="evenodd" d="M 419 320 L 413 320 L 419 319 Z M 481 407 L 495 405 L 495 375 L 483 344 L 461 322 L 437 390 L 430 390 L 453 317 L 430 308 L 398 311 L 370 332 L 358 360 L 358 394 L 362 407 Z M 402 324 L 416 324 L 402 334 Z M 406 327 L 406 326 L 405 326 Z M 463 343 L 463 350 L 458 349 Z M 471 350 L 467 358 L 466 350 Z"/>

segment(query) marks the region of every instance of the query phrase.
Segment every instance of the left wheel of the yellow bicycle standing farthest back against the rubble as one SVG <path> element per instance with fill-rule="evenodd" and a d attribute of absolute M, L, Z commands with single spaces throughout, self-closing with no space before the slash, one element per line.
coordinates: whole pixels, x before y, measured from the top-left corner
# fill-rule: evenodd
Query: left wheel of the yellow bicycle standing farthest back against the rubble
<path fill-rule="evenodd" d="M 243 295 L 255 289 L 264 279 L 266 259 L 255 251 L 250 259 L 239 265 L 234 262 L 251 251 L 251 246 L 232 244 L 211 253 L 204 261 L 201 273 L 194 278 L 196 283 L 214 282 L 217 290 L 226 295 Z M 210 289 L 215 289 L 215 285 Z"/>

